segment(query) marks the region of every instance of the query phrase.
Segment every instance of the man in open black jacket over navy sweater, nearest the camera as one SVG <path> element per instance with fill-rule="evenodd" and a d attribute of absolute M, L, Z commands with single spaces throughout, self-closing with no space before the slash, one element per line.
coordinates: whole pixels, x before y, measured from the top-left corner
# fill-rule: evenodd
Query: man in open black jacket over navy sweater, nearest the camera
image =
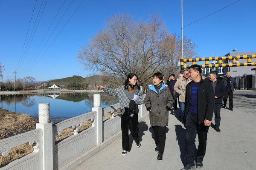
<path fill-rule="evenodd" d="M 189 78 L 192 82 L 186 86 L 185 116 L 186 146 L 185 167 L 182 170 L 195 170 L 203 167 L 206 151 L 207 132 L 211 125 L 214 111 L 214 92 L 209 81 L 201 78 L 199 65 L 189 67 Z M 195 137 L 198 133 L 198 150 L 196 152 Z"/>

